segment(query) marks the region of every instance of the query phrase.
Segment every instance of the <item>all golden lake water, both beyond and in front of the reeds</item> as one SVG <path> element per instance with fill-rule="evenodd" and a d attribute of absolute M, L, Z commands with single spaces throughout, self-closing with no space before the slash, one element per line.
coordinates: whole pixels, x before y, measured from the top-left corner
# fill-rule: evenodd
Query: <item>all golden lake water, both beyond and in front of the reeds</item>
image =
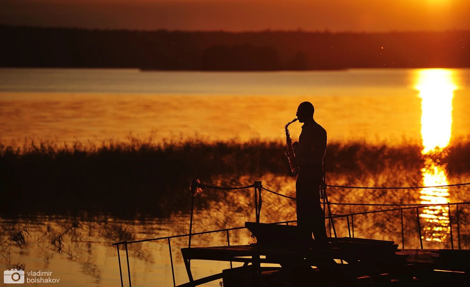
<path fill-rule="evenodd" d="M 358 178 L 358 185 L 403 185 L 409 178 L 424 186 L 470 181 L 469 174 L 449 173 L 446 165 L 439 164 L 441 154 L 451 149 L 453 141 L 469 136 L 470 69 L 299 72 L 0 69 L 0 140 L 11 145 L 22 145 L 25 138 L 59 143 L 91 140 L 99 144 L 107 138 L 125 140 L 132 133 L 143 138 L 151 136 L 156 142 L 192 138 L 284 141 L 284 124 L 295 117 L 302 101 L 311 101 L 315 106 L 315 119 L 328 131 L 329 142 L 422 146 L 421 169 L 390 168 Z M 290 132 L 296 140 L 300 124 L 291 124 Z M 332 172 L 329 184 L 351 183 L 348 177 L 352 175 Z M 214 178 L 213 184 L 227 185 L 233 178 L 240 185 L 259 179 L 236 174 Z M 261 178 L 267 188 L 295 196 L 294 179 L 268 172 Z M 251 192 L 223 193 L 223 201 L 209 195 L 199 199 L 211 208 L 196 209 L 193 232 L 254 221 Z M 450 248 L 449 210 L 444 203 L 468 200 L 468 188 L 424 188 L 392 195 L 370 195 L 357 190 L 330 193 L 331 202 L 442 204 L 420 211 L 425 248 Z M 334 209 L 334 213 L 340 214 L 357 210 L 347 206 Z M 360 211 L 374 209 L 366 207 Z M 468 214 L 464 207 L 460 211 Z M 452 210 L 453 216 L 454 213 Z M 420 245 L 415 216 L 414 209 L 404 211 L 406 248 Z M 262 222 L 292 219 L 295 202 L 264 194 Z M 354 220 L 356 237 L 394 240 L 401 248 L 399 213 L 358 216 Z M 461 220 L 462 248 L 469 248 L 469 221 L 465 217 Z M 60 279 L 58 284 L 39 286 L 119 286 L 117 252 L 112 243 L 187 233 L 188 225 L 188 210 L 172 210 L 164 218 L 123 219 L 113 214 L 87 214 L 86 208 L 79 215 L 0 217 L 4 241 L 0 245 L 0 263 L 4 269 L 52 271 L 50 277 Z M 337 220 L 335 226 L 338 236 L 348 236 L 344 219 Z M 15 237 L 20 233 L 24 243 Z M 249 235 L 246 230 L 230 232 L 230 243 L 246 244 Z M 225 233 L 195 236 L 192 246 L 225 245 L 225 236 Z M 172 286 L 167 244 L 162 240 L 129 245 L 133 286 Z M 187 238 L 172 240 L 177 285 L 188 280 L 180 254 L 180 248 L 187 244 Z M 121 249 L 126 279 L 123 254 Z M 191 265 L 195 278 L 229 267 L 228 263 L 204 261 Z M 205 285 L 219 286 L 219 280 Z"/>

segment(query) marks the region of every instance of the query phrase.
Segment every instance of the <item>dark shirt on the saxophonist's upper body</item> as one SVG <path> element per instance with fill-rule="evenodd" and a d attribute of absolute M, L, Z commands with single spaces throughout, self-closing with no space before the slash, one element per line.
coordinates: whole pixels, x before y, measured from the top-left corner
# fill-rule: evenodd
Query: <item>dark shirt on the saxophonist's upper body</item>
<path fill-rule="evenodd" d="M 321 166 L 325 157 L 326 142 L 326 131 L 315 120 L 302 125 L 298 147 L 295 149 L 298 165 Z"/>

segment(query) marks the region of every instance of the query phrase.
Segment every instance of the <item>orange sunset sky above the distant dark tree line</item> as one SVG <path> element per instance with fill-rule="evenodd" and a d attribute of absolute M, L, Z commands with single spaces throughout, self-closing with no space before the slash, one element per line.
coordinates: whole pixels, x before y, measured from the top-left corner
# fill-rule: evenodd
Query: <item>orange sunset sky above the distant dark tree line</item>
<path fill-rule="evenodd" d="M 470 29 L 469 0 L 1 0 L 0 23 L 117 29 Z"/>

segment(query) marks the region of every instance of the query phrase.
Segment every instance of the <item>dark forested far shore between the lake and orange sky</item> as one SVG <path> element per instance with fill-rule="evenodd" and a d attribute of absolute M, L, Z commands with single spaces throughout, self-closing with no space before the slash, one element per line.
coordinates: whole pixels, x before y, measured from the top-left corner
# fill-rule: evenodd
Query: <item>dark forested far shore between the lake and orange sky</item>
<path fill-rule="evenodd" d="M 317 70 L 470 67 L 470 31 L 131 31 L 0 26 L 2 67 Z"/>

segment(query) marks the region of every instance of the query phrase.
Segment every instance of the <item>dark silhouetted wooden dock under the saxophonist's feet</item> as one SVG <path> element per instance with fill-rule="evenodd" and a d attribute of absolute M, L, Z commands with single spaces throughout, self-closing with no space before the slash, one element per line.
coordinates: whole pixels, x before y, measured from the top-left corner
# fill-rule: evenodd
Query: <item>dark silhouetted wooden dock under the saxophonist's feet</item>
<path fill-rule="evenodd" d="M 189 282 L 197 286 L 222 279 L 224 287 L 317 286 L 437 286 L 442 280 L 470 279 L 470 250 L 399 249 L 393 241 L 329 238 L 327 247 L 298 248 L 295 225 L 246 225 L 257 234 L 250 245 L 182 248 Z M 280 235 L 273 240 L 275 233 Z M 241 262 L 243 266 L 193 279 L 190 260 Z M 280 264 L 281 267 L 263 267 Z"/>

